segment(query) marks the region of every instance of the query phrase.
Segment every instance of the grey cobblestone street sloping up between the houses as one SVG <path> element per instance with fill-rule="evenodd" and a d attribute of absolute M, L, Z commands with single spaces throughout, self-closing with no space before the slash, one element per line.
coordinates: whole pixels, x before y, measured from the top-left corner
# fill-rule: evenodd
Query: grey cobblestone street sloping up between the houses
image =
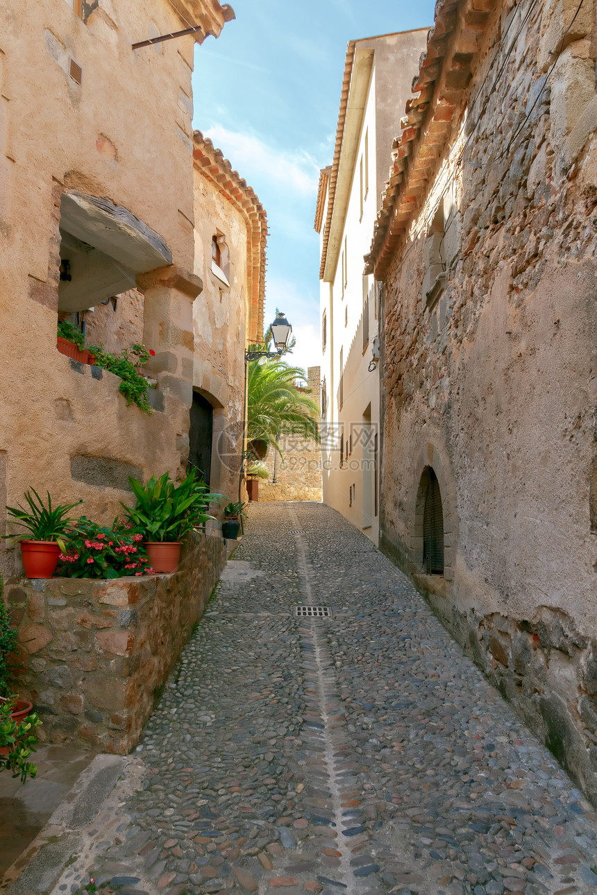
<path fill-rule="evenodd" d="M 405 576 L 319 504 L 253 506 L 247 528 L 141 788 L 54 892 L 597 892 L 590 805 Z"/>

